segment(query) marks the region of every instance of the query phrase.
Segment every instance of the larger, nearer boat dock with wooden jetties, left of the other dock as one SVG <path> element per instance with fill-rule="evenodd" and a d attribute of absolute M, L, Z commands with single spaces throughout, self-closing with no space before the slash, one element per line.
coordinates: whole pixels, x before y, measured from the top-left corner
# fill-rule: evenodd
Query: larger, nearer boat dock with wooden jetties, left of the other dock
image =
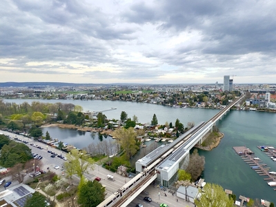
<path fill-rule="evenodd" d="M 245 146 L 237 146 L 233 147 L 233 149 L 259 176 L 266 176 L 264 180 L 268 181 L 269 186 L 276 187 L 274 185 L 274 182 L 276 183 L 276 175 L 268 172 L 270 168 L 259 157 L 255 157 L 255 153 L 252 150 Z M 276 188 L 273 188 L 273 190 L 276 190 Z"/>

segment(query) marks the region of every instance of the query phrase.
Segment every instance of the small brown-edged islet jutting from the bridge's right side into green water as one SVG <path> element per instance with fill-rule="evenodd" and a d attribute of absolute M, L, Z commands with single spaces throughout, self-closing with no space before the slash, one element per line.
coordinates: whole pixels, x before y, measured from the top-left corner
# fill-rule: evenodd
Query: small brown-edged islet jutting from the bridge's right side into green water
<path fill-rule="evenodd" d="M 219 143 L 221 139 L 224 137 L 224 133 L 222 132 L 212 132 L 207 133 L 205 135 L 207 138 L 203 141 L 201 145 L 195 145 L 196 148 L 199 148 L 201 150 L 210 151 L 213 150 L 213 148 L 216 148 L 219 146 Z"/>

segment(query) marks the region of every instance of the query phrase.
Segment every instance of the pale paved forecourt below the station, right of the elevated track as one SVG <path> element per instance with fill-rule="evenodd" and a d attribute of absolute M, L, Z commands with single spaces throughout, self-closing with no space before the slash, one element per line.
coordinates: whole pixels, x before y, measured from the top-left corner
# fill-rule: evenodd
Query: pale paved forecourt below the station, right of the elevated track
<path fill-rule="evenodd" d="M 168 190 L 163 191 L 159 188 L 155 188 L 155 186 L 148 186 L 144 191 L 148 192 L 152 201 L 155 201 L 157 204 L 167 204 L 168 206 L 184 206 L 184 207 L 195 207 L 195 204 L 192 204 L 184 199 L 177 197 L 176 193 L 172 195 L 172 193 L 168 193 Z M 160 195 L 159 195 L 160 193 Z M 167 196 L 165 196 L 165 193 Z M 144 194 L 143 194 L 144 195 Z M 147 195 L 144 195 L 147 196 Z M 177 201 L 178 199 L 178 201 Z"/>

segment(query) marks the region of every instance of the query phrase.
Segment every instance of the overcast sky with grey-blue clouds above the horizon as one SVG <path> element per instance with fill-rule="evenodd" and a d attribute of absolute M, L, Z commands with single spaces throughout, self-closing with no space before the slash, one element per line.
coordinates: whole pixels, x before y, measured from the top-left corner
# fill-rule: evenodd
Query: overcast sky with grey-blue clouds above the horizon
<path fill-rule="evenodd" d="M 0 82 L 276 83 L 275 66 L 275 0 L 1 0 Z"/>

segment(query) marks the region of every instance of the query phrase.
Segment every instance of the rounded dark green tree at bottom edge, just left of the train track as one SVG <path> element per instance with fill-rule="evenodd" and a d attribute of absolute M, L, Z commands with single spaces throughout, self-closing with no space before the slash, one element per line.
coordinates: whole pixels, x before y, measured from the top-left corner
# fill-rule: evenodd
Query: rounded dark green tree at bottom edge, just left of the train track
<path fill-rule="evenodd" d="M 105 188 L 99 181 L 88 181 L 79 188 L 78 203 L 81 207 L 96 207 L 106 196 Z"/>

